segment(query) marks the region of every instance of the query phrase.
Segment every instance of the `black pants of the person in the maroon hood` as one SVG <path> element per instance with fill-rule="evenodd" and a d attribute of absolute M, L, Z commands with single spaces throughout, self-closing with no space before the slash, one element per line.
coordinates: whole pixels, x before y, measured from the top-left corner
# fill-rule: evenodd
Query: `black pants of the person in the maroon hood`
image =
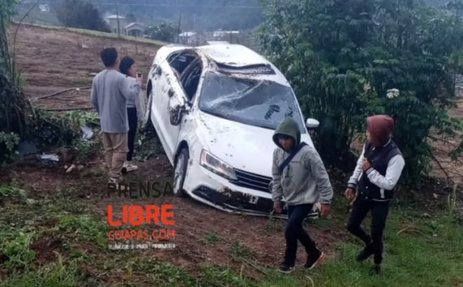
<path fill-rule="evenodd" d="M 373 201 L 365 194 L 359 193 L 347 225 L 348 231 L 353 235 L 366 244 L 372 243 L 375 264 L 380 264 L 383 260 L 383 232 L 389 214 L 389 203 L 390 201 Z M 368 211 L 372 212 L 371 236 L 360 227 Z"/>

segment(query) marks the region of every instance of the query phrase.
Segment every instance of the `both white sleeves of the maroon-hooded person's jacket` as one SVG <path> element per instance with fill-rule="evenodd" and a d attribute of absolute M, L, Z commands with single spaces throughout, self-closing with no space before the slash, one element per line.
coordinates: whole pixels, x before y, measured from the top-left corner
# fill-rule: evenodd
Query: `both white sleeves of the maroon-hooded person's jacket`
<path fill-rule="evenodd" d="M 389 145 L 391 140 L 389 140 L 386 145 Z M 384 145 L 384 147 L 386 147 Z M 357 183 L 362 177 L 363 173 L 363 166 L 365 164 L 365 146 L 363 146 L 363 152 L 358 158 L 356 169 L 353 171 L 351 178 L 348 181 L 348 187 L 356 189 Z M 374 168 L 369 168 L 367 170 L 367 176 L 372 184 L 376 185 L 377 187 L 385 190 L 391 190 L 396 187 L 398 180 L 400 179 L 400 175 L 402 174 L 403 168 L 405 167 L 405 160 L 401 154 L 393 156 L 389 163 L 387 163 L 386 175 L 381 175 L 378 171 Z"/>

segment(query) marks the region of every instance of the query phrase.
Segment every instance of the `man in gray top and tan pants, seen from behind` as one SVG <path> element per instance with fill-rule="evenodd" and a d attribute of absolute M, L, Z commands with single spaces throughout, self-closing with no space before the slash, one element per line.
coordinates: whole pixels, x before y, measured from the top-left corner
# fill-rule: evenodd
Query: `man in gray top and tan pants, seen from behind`
<path fill-rule="evenodd" d="M 105 69 L 93 78 L 91 102 L 100 115 L 103 147 L 110 182 L 122 180 L 122 166 L 129 152 L 127 133 L 127 100 L 133 100 L 141 93 L 141 77 L 131 85 L 119 68 L 119 58 L 115 48 L 105 48 L 100 53 Z"/>

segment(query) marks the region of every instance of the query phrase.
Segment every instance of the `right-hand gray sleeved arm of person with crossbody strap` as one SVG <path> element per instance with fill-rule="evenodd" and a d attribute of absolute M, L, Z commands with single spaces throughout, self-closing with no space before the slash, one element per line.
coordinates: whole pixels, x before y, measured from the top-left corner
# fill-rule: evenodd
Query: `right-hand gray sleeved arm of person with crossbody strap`
<path fill-rule="evenodd" d="M 310 147 L 308 151 L 305 156 L 305 163 L 306 167 L 313 174 L 315 182 L 317 182 L 318 192 L 320 192 L 320 203 L 330 204 L 333 197 L 330 176 L 318 152 L 313 147 Z"/>

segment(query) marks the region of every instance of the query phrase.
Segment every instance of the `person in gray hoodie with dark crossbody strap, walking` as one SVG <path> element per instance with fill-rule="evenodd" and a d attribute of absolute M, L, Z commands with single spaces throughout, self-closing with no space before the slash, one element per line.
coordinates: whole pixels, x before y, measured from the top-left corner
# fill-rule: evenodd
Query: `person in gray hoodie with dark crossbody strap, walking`
<path fill-rule="evenodd" d="M 282 121 L 273 142 L 278 146 L 273 152 L 272 166 L 274 209 L 282 212 L 283 199 L 288 208 L 285 260 L 279 271 L 294 270 L 298 239 L 308 254 L 304 267 L 313 269 L 325 261 L 326 254 L 317 248 L 302 223 L 315 203 L 321 203 L 323 217 L 330 215 L 333 196 L 330 178 L 318 152 L 301 142 L 301 131 L 294 119 L 287 117 Z"/>

